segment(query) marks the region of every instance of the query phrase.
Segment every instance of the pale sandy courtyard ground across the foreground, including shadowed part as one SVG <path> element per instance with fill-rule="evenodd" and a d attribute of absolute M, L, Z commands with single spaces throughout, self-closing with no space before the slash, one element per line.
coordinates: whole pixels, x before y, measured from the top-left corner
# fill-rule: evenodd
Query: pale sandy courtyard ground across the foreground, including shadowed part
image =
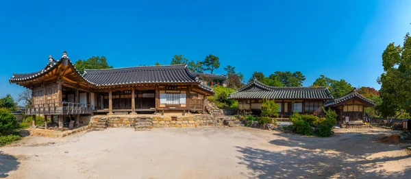
<path fill-rule="evenodd" d="M 251 128 L 109 128 L 0 147 L 0 178 L 410 178 L 388 130 L 329 138 Z"/>

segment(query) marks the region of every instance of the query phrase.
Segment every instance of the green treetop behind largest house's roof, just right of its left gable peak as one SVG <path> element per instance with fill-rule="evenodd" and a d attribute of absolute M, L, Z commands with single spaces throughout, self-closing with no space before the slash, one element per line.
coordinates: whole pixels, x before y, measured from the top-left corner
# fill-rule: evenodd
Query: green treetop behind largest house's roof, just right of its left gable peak
<path fill-rule="evenodd" d="M 79 59 L 74 63 L 74 67 L 79 73 L 84 73 L 85 69 L 112 69 L 113 66 L 108 65 L 105 56 L 92 56 L 87 60 Z"/>

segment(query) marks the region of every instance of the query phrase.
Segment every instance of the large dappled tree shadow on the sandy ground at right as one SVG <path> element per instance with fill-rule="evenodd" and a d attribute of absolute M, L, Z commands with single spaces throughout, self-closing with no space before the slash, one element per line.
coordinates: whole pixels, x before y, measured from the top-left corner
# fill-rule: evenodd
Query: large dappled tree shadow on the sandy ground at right
<path fill-rule="evenodd" d="M 269 143 L 290 147 L 270 151 L 237 146 L 240 165 L 246 165 L 251 178 L 410 178 L 411 169 L 388 172 L 385 162 L 410 158 L 409 155 L 366 158 L 377 152 L 395 152 L 398 145 L 375 143 L 375 134 L 342 134 L 331 138 L 275 134 L 284 138 Z M 356 138 L 360 138 L 354 140 Z M 360 142 L 360 143 L 358 143 Z M 347 145 L 345 145 L 345 143 Z"/>

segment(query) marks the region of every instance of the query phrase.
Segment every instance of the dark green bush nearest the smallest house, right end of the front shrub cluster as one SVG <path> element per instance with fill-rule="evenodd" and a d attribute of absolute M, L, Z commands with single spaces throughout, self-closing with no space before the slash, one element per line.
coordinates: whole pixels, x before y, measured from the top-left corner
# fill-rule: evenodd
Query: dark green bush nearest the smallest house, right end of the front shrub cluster
<path fill-rule="evenodd" d="M 319 123 L 319 128 L 315 130 L 315 133 L 318 136 L 331 136 L 332 129 L 337 123 L 337 113 L 331 109 L 323 109 L 323 111 L 325 112 L 325 119 Z"/>

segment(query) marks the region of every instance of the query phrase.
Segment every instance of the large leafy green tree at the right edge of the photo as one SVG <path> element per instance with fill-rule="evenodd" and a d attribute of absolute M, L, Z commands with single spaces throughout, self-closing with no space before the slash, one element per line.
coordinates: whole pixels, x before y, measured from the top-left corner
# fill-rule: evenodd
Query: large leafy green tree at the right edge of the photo
<path fill-rule="evenodd" d="M 411 38 L 407 33 L 403 46 L 390 43 L 382 53 L 384 72 L 377 79 L 381 84 L 377 106 L 382 117 L 397 117 L 411 112 Z"/>

